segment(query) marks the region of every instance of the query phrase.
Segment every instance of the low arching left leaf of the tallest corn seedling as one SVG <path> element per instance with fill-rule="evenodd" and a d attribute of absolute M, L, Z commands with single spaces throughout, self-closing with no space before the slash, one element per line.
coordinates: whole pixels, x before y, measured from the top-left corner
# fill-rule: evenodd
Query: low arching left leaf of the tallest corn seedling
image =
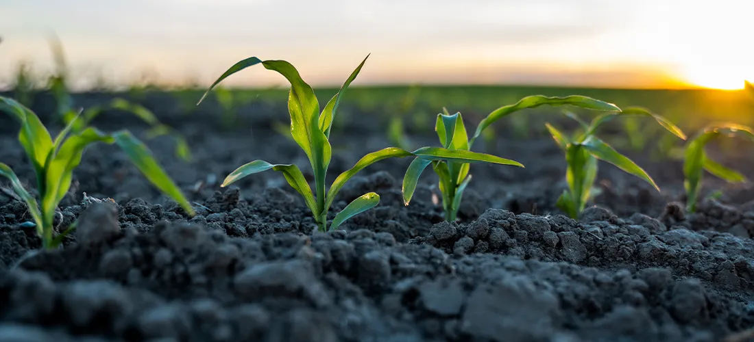
<path fill-rule="evenodd" d="M 235 169 L 231 174 L 228 174 L 228 177 L 225 177 L 225 180 L 222 181 L 221 186 L 229 186 L 250 174 L 258 174 L 259 172 L 267 171 L 269 169 L 281 172 L 288 184 L 296 190 L 296 192 L 299 192 L 299 194 L 302 195 L 306 206 L 309 207 L 311 212 L 315 215 L 317 214 L 317 204 L 314 203 L 314 195 L 311 193 L 309 183 L 307 183 L 304 174 L 302 174 L 301 170 L 296 165 L 270 164 L 264 160 L 255 160 Z"/>

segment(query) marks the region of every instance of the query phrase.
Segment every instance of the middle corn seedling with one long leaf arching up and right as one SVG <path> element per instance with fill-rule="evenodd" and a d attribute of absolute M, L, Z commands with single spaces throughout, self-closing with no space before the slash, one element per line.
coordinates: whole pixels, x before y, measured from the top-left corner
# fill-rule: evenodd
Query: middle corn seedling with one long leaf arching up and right
<path fill-rule="evenodd" d="M 464 126 L 461 113 L 449 115 L 447 110 L 444 110 L 445 113 L 437 115 L 435 132 L 437 132 L 437 138 L 440 138 L 440 144 L 447 150 L 453 152 L 469 152 L 474 141 L 476 141 L 477 138 L 480 138 L 480 136 L 483 136 L 483 132 L 489 128 L 492 123 L 495 123 L 495 121 L 500 120 L 502 117 L 506 117 L 511 113 L 515 113 L 518 110 L 539 107 L 545 104 L 550 106 L 569 104 L 592 110 L 620 110 L 618 107 L 615 107 L 614 104 L 609 104 L 593 98 L 587 98 L 585 96 L 571 95 L 559 98 L 533 95 L 522 98 L 515 104 L 509 104 L 493 110 L 492 113 L 489 113 L 489 115 L 480 122 L 471 139 L 468 139 L 467 137 L 466 127 Z M 484 156 L 484 158 L 474 161 L 523 167 L 523 165 L 514 160 L 503 159 L 497 156 Z M 432 165 L 435 174 L 440 178 L 439 188 L 443 195 L 445 219 L 449 222 L 453 222 L 458 216 L 458 208 L 461 207 L 461 198 L 464 190 L 471 180 L 471 175 L 469 174 L 470 161 L 430 160 L 424 156 L 417 156 L 411 162 L 408 170 L 406 170 L 406 175 L 403 177 L 403 201 L 406 205 L 409 204 L 416 189 L 418 178 L 430 164 Z"/>

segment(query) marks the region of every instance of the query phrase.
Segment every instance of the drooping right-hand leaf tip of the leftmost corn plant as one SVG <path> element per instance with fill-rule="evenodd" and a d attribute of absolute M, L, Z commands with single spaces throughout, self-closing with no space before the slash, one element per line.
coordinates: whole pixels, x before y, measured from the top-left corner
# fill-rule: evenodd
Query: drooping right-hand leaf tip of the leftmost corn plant
<path fill-rule="evenodd" d="M 128 159 L 133 162 L 133 165 L 135 165 L 136 168 L 144 174 L 144 177 L 149 180 L 149 183 L 152 183 L 152 185 L 160 189 L 161 192 L 178 202 L 183 210 L 185 210 L 186 213 L 189 213 L 190 216 L 195 215 L 194 208 L 189 204 L 189 201 L 185 198 L 178 186 L 176 186 L 176 183 L 174 183 L 160 167 L 155 160 L 155 157 L 152 156 L 152 153 L 149 152 L 149 149 L 144 143 L 139 141 L 139 139 L 136 139 L 136 137 L 128 131 L 115 132 L 115 134 L 112 135 L 112 138 L 115 140 L 115 144 L 118 145 L 118 147 L 121 147 L 121 150 L 126 153 L 126 156 L 128 156 Z"/>

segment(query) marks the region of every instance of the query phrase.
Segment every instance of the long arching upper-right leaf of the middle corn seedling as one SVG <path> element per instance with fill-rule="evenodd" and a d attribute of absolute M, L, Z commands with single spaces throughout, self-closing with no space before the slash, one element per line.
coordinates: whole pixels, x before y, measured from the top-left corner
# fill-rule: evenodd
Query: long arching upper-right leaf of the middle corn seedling
<path fill-rule="evenodd" d="M 516 112 L 518 110 L 539 107 L 544 104 L 550 106 L 562 106 L 568 104 L 590 110 L 621 110 L 621 108 L 616 107 L 615 104 L 607 103 L 605 101 L 599 101 L 594 98 L 589 98 L 581 95 L 570 95 L 562 98 L 547 97 L 544 95 L 527 96 L 525 98 L 522 98 L 515 104 L 509 104 L 504 107 L 499 107 L 498 109 L 493 110 L 492 113 L 489 113 L 489 115 L 487 115 L 487 117 L 482 120 L 481 123 L 479 123 L 479 126 L 477 126 L 477 132 L 475 132 L 474 136 L 471 137 L 469 145 L 474 144 L 474 141 L 477 140 L 480 135 L 482 135 L 482 131 L 484 131 L 488 126 L 492 125 L 492 123 L 495 123 L 495 121 L 500 120 L 501 117 L 505 117 L 508 114 Z"/>

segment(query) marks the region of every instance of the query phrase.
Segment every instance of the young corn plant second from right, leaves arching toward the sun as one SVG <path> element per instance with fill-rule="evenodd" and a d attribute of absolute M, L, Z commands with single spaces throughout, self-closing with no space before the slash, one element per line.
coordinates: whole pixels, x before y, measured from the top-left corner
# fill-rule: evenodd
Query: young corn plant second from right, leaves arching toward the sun
<path fill-rule="evenodd" d="M 686 135 L 670 123 L 664 117 L 651 113 L 648 110 L 640 107 L 630 107 L 621 111 L 615 111 L 611 113 L 603 113 L 598 117 L 595 117 L 591 123 L 586 123 L 573 115 L 567 113 L 567 116 L 576 120 L 581 129 L 584 132 L 576 133 L 572 136 L 566 135 L 556 129 L 555 126 L 550 123 L 546 123 L 547 130 L 550 131 L 555 142 L 566 153 L 566 182 L 568 183 L 568 189 L 564 190 L 562 195 L 558 198 L 556 203 L 560 210 L 567 213 L 573 219 L 577 219 L 581 211 L 586 207 L 587 201 L 593 195 L 593 185 L 597 176 L 597 161 L 602 160 L 609 162 L 612 165 L 617 166 L 623 171 L 629 174 L 633 174 L 636 177 L 650 183 L 654 189 L 660 191 L 660 188 L 654 183 L 651 177 L 636 165 L 627 156 L 618 153 L 610 145 L 596 137 L 596 130 L 599 126 L 615 119 L 615 117 L 625 115 L 640 115 L 654 118 L 664 129 L 673 133 L 678 138 L 686 139 Z"/>

